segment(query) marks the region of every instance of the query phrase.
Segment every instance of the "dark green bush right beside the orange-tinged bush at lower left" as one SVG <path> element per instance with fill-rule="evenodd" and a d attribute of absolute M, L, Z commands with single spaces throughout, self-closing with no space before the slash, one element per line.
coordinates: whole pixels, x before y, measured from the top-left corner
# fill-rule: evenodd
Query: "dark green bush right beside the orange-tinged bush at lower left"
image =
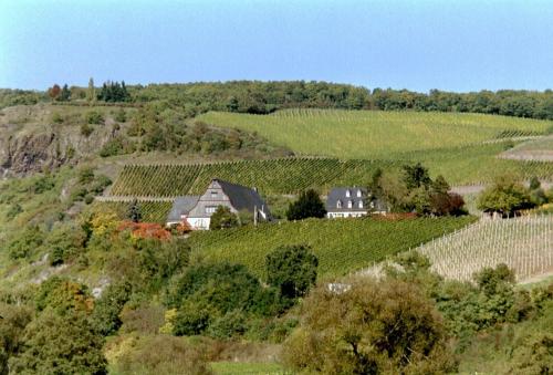
<path fill-rule="evenodd" d="M 108 336 L 117 332 L 123 324 L 119 314 L 129 300 L 132 285 L 128 282 L 109 284 L 96 300 L 91 315 L 94 332 Z"/>

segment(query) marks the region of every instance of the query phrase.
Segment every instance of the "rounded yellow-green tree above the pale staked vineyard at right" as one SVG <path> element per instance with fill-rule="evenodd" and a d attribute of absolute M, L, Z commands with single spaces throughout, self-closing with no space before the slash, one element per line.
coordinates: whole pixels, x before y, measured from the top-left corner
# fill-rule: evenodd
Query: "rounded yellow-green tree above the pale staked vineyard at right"
<path fill-rule="evenodd" d="M 478 197 L 478 208 L 484 212 L 498 212 L 501 216 L 514 215 L 534 204 L 524 186 L 511 176 L 501 176 Z"/>

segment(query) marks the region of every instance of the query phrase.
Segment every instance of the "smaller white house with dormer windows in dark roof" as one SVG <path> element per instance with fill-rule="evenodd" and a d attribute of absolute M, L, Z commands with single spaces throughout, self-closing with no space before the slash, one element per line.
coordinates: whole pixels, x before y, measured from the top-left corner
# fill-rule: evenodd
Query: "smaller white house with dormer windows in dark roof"
<path fill-rule="evenodd" d="M 373 213 L 386 213 L 385 205 L 378 199 L 367 199 L 367 190 L 359 187 L 338 187 L 326 198 L 326 217 L 357 218 Z"/>

